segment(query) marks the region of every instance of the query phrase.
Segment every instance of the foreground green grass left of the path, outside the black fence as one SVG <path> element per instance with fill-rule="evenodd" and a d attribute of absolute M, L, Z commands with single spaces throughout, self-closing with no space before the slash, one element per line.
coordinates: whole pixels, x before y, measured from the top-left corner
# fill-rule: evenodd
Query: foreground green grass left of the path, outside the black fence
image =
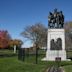
<path fill-rule="evenodd" d="M 45 72 L 48 67 L 45 62 L 35 64 L 30 61 L 21 62 L 17 57 L 0 58 L 0 72 Z"/>

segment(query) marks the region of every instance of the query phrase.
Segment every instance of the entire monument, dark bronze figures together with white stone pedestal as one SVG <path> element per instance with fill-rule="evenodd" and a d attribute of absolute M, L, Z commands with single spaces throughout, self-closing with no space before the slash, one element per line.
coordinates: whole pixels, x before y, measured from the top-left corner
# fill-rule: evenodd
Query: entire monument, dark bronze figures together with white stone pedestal
<path fill-rule="evenodd" d="M 66 60 L 64 15 L 62 11 L 49 12 L 46 57 L 42 60 Z"/>

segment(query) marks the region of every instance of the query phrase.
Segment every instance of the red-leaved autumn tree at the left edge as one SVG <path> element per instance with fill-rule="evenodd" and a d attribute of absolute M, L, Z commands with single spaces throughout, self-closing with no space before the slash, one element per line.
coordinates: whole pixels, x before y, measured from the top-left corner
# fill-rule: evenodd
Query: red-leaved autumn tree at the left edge
<path fill-rule="evenodd" d="M 10 34 L 8 31 L 0 31 L 0 48 L 7 48 L 8 47 L 8 41 L 11 39 Z"/>

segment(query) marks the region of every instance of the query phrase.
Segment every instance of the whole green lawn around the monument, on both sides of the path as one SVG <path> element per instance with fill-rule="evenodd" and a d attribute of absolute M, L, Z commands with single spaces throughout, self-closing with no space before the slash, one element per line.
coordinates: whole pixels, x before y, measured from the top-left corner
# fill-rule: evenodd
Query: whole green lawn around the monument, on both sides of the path
<path fill-rule="evenodd" d="M 1 51 L 2 52 L 2 51 Z M 5 51 L 4 53 L 12 54 L 11 51 Z M 0 72 L 46 72 L 47 68 L 52 65 L 57 65 L 57 62 L 44 62 L 41 61 L 43 55 L 38 56 L 38 64 L 35 64 L 35 56 L 30 55 L 25 57 L 25 61 L 19 61 L 17 56 L 0 58 Z M 66 72 L 72 72 L 72 62 L 61 62 L 60 66 L 64 68 Z"/>

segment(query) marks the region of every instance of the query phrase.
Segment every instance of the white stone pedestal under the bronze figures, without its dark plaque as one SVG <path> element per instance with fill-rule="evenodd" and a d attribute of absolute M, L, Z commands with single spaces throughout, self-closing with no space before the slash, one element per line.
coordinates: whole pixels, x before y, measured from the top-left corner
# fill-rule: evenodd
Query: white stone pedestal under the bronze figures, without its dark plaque
<path fill-rule="evenodd" d="M 62 40 L 62 49 L 51 50 L 51 40 L 53 39 L 54 41 L 57 41 L 58 38 Z M 64 29 L 48 29 L 46 57 L 42 60 L 55 61 L 57 57 L 60 57 L 62 61 L 66 60 L 65 30 Z"/>

